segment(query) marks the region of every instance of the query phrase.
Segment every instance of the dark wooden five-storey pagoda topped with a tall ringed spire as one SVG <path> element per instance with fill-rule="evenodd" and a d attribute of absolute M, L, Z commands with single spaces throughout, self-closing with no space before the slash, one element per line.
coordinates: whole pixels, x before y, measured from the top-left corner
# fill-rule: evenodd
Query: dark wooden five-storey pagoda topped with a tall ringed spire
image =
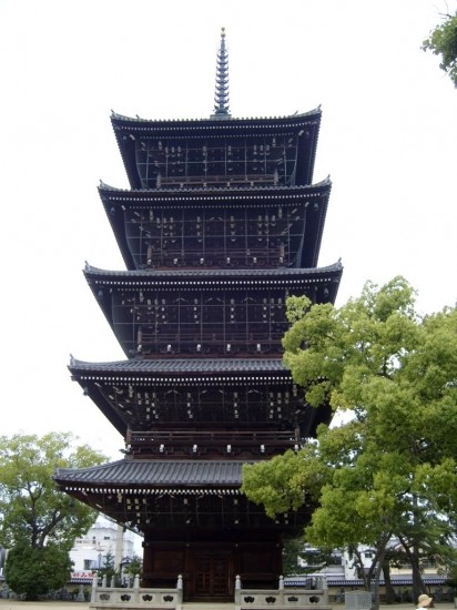
<path fill-rule="evenodd" d="M 128 271 L 85 267 L 126 355 L 70 369 L 125 439 L 120 461 L 60 470 L 67 492 L 144 533 L 145 587 L 185 599 L 277 583 L 284 532 L 241 494 L 242 466 L 297 448 L 329 411 L 308 407 L 282 362 L 288 295 L 336 297 L 317 267 L 331 192 L 312 183 L 321 111 L 228 112 L 224 32 L 206 120 L 112 115 L 130 189 L 100 196 Z"/>

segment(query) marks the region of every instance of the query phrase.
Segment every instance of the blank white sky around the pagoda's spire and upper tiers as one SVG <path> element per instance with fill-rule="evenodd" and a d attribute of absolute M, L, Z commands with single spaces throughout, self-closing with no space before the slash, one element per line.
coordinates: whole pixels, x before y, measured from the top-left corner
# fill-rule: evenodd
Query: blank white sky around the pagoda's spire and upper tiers
<path fill-rule="evenodd" d="M 457 299 L 457 90 L 423 40 L 455 0 L 0 0 L 0 434 L 122 439 L 69 355 L 123 359 L 83 278 L 124 268 L 97 185 L 125 189 L 111 109 L 206 118 L 226 28 L 233 116 L 322 104 L 315 182 L 333 181 L 321 265 L 337 305 L 404 275 L 419 311 Z"/>

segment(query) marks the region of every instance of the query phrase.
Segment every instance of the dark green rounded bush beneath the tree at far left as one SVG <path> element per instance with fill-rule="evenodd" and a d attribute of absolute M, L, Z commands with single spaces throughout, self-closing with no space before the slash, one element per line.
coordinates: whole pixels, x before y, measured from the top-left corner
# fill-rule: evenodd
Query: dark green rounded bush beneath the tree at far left
<path fill-rule="evenodd" d="M 50 543 L 47 547 L 18 545 L 8 553 L 4 575 L 9 587 L 28 600 L 63 587 L 70 577 L 72 561 L 67 549 Z"/>

